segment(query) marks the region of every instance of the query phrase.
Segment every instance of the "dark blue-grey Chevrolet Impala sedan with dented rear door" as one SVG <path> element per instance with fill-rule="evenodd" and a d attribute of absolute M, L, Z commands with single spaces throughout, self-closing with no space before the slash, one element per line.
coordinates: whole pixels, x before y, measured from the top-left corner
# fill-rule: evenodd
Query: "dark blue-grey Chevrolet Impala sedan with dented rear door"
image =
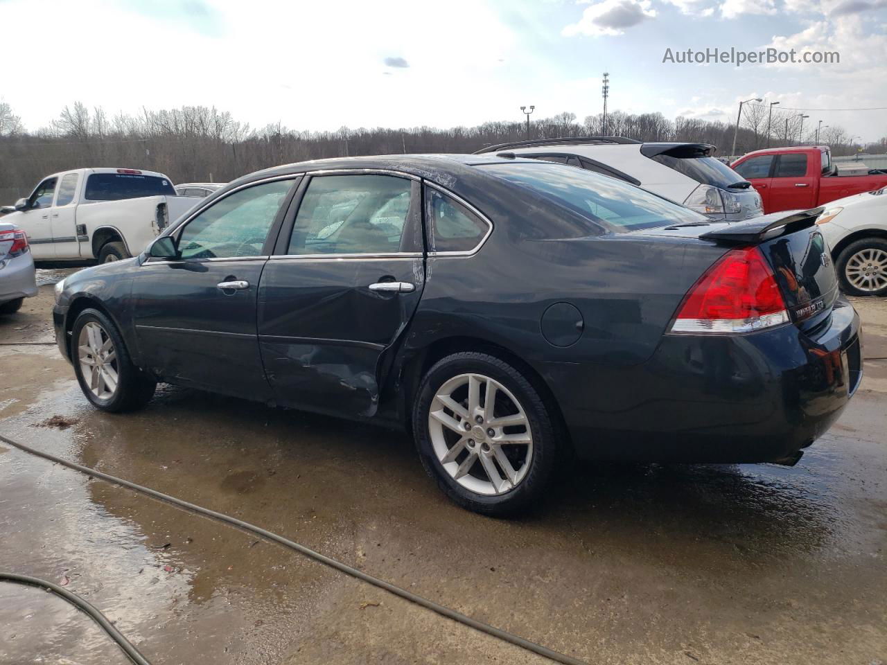
<path fill-rule="evenodd" d="M 860 381 L 819 210 L 716 222 L 491 155 L 310 161 L 227 185 L 58 287 L 98 409 L 158 381 L 404 426 L 471 510 L 570 454 L 792 464 Z"/>

